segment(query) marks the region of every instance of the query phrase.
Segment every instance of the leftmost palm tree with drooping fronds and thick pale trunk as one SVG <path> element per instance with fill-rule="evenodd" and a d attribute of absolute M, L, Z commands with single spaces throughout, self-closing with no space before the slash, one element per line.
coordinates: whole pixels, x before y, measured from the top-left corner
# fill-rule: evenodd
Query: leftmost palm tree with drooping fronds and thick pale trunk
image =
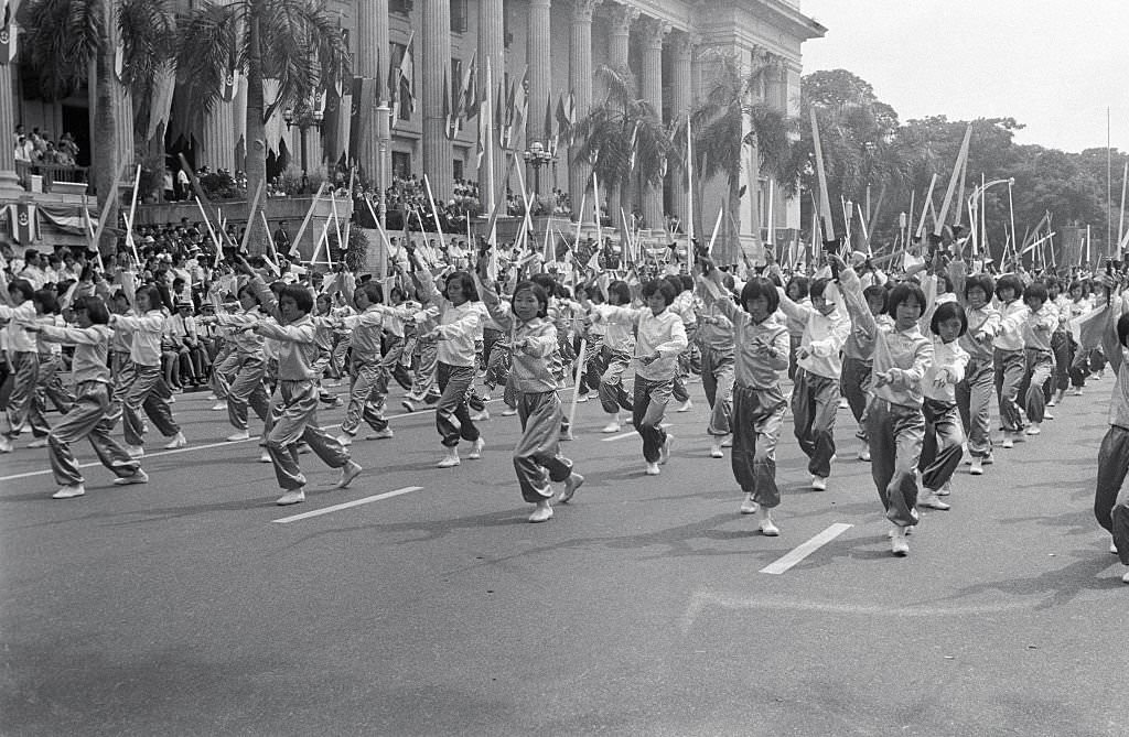
<path fill-rule="evenodd" d="M 91 135 L 91 176 L 102 199 L 112 198 L 108 220 L 117 222 L 117 193 L 111 192 L 122 164 L 137 151 L 119 151 L 119 125 L 148 125 L 149 99 L 160 64 L 172 58 L 174 27 L 167 0 L 30 0 L 19 8 L 23 29 L 21 64 L 38 72 L 42 94 L 61 99 L 79 89 L 94 69 L 95 119 Z M 115 56 L 122 50 L 121 84 L 140 102 L 134 120 L 117 104 Z M 107 229 L 105 248 L 115 236 Z"/>

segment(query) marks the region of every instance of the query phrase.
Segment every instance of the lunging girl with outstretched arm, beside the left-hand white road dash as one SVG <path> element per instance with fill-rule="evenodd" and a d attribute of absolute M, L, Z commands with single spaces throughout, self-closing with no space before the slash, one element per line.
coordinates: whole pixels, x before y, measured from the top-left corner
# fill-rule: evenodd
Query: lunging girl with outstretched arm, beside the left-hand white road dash
<path fill-rule="evenodd" d="M 306 476 L 298 465 L 298 442 L 305 441 L 325 465 L 340 468 L 335 489 L 345 489 L 361 467 L 333 436 L 317 424 L 317 376 L 314 363 L 318 346 L 316 327 L 309 317 L 314 297 L 299 284 L 282 289 L 279 313 L 285 324 L 266 321 L 255 323 L 254 332 L 279 341 L 279 400 L 272 409 L 274 424 L 266 433 L 266 451 L 274 464 L 274 475 L 283 494 L 278 505 L 296 505 L 306 500 Z"/>

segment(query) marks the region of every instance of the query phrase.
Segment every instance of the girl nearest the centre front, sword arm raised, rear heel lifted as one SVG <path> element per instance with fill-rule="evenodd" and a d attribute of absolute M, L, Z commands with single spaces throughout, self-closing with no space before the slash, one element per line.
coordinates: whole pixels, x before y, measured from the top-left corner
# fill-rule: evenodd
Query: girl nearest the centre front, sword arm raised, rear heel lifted
<path fill-rule="evenodd" d="M 522 486 L 522 498 L 536 505 L 531 523 L 543 523 L 553 516 L 552 488 L 549 482 L 564 482 L 560 501 L 567 502 L 584 483 L 584 476 L 572 471 L 572 462 L 560 454 L 561 401 L 557 389 L 560 363 L 557 328 L 549 318 L 549 296 L 532 281 L 520 282 L 514 291 L 511 314 L 505 312 L 498 295 L 485 284 L 485 263 L 480 264 L 479 293 L 490 310 L 490 317 L 509 336 L 514 356 L 511 380 L 518 391 L 517 415 L 522 420 L 522 439 L 514 448 L 514 470 Z M 548 480 L 545 474 L 548 472 Z"/>

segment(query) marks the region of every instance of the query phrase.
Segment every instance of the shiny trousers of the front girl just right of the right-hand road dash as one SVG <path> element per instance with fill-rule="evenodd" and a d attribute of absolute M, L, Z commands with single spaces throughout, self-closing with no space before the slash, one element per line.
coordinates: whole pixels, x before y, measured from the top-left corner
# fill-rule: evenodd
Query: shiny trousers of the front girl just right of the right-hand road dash
<path fill-rule="evenodd" d="M 866 422 L 870 439 L 870 476 L 886 510 L 886 519 L 899 527 L 916 525 L 917 467 L 925 440 L 921 409 L 874 397 Z"/>

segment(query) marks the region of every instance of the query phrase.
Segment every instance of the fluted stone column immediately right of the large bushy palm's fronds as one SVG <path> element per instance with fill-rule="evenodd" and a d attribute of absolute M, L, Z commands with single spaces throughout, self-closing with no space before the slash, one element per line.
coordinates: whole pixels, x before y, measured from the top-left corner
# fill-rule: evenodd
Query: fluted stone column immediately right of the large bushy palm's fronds
<path fill-rule="evenodd" d="M 377 184 L 382 181 L 380 146 L 378 135 L 380 126 L 376 121 L 376 107 L 380 102 L 387 102 L 388 74 L 385 72 L 388 64 L 388 0 L 357 0 L 357 69 L 353 73 L 366 80 L 365 87 L 375 84 L 382 90 L 382 100 L 368 100 L 361 109 L 360 130 L 364 138 L 358 141 L 357 158 L 360 168 L 365 172 L 369 182 Z M 373 80 L 369 82 L 368 80 Z M 387 129 L 387 125 L 383 126 Z M 384 150 L 388 147 L 385 146 Z M 384 188 L 380 187 L 380 196 L 384 196 Z"/>

